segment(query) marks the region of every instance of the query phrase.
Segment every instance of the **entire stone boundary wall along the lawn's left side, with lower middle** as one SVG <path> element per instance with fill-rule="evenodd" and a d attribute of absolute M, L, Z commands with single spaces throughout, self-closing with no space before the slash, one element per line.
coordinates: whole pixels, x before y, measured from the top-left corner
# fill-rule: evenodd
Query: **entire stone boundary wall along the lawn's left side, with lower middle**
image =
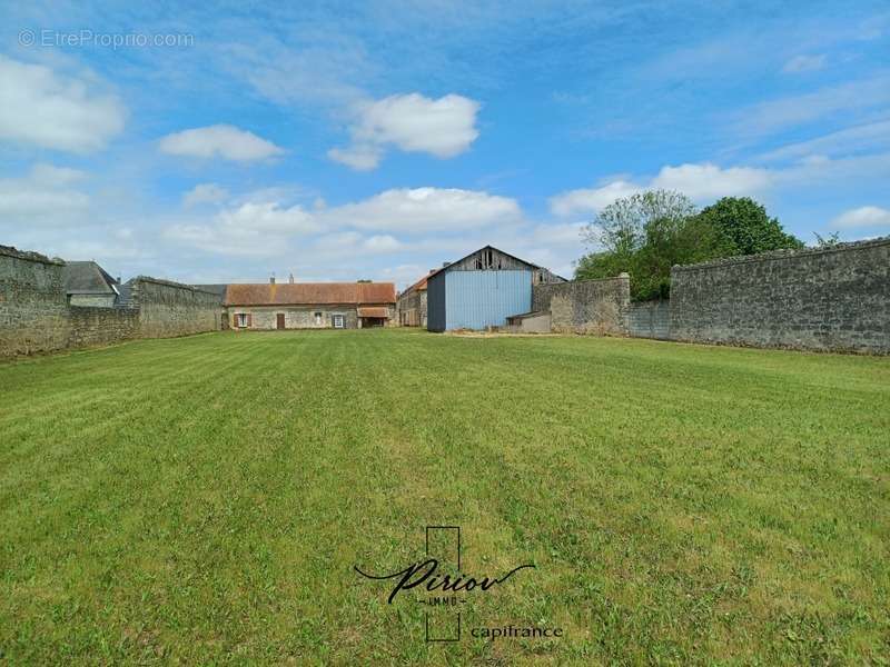
<path fill-rule="evenodd" d="M 63 266 L 0 246 L 0 358 L 221 327 L 218 295 L 145 276 L 132 281 L 131 307 L 70 306 Z"/>

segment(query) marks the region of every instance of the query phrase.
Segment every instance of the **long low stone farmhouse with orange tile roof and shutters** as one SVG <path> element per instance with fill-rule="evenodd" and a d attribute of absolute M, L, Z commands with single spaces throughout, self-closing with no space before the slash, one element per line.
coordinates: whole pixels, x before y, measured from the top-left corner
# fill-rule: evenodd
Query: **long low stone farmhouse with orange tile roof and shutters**
<path fill-rule="evenodd" d="M 228 285 L 224 303 L 233 329 L 362 329 L 393 321 L 392 282 Z"/>

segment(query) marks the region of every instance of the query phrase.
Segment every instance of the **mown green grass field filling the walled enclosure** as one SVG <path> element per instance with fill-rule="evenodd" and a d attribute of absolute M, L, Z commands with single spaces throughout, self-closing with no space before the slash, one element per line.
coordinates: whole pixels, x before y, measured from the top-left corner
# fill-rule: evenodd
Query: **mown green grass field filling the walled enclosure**
<path fill-rule="evenodd" d="M 2 364 L 0 439 L 9 664 L 890 655 L 887 358 L 214 334 Z M 353 570 L 427 525 L 469 575 L 536 565 L 465 595 L 459 643 Z M 469 635 L 508 624 L 564 635 Z"/>

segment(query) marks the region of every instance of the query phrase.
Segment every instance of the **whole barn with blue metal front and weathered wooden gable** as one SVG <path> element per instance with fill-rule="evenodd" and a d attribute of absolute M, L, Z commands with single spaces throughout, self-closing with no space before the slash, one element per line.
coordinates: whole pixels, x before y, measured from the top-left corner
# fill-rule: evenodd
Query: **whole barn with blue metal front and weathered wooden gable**
<path fill-rule="evenodd" d="M 429 331 L 502 327 L 532 309 L 532 285 L 562 280 L 492 246 L 471 252 L 427 277 Z"/>

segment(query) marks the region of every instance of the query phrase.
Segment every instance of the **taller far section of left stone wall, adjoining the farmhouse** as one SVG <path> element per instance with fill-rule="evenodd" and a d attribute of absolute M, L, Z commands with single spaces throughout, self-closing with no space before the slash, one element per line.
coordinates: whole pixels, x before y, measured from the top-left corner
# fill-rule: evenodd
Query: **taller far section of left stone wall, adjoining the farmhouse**
<path fill-rule="evenodd" d="M 134 305 L 139 308 L 139 338 L 171 338 L 221 328 L 218 295 L 146 276 L 130 283 Z"/>

